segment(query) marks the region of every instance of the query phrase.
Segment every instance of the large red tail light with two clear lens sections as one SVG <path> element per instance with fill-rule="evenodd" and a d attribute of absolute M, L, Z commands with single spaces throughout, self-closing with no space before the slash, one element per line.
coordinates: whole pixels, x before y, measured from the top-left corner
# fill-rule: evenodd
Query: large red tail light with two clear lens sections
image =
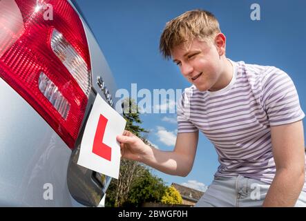
<path fill-rule="evenodd" d="M 74 148 L 91 73 L 82 21 L 67 1 L 0 1 L 0 77 Z"/>

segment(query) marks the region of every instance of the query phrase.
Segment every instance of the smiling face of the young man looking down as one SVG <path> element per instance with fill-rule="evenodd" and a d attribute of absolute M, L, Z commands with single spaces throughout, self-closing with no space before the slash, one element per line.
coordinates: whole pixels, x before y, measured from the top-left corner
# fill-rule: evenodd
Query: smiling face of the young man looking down
<path fill-rule="evenodd" d="M 194 39 L 191 43 L 173 48 L 171 56 L 182 75 L 198 90 L 221 89 L 218 88 L 218 79 L 222 73 L 222 62 L 213 43 Z"/>

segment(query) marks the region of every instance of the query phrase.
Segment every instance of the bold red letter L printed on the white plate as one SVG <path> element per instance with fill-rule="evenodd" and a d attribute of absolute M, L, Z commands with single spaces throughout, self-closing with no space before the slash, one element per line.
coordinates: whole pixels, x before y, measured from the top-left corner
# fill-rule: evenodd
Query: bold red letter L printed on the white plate
<path fill-rule="evenodd" d="M 106 119 L 103 115 L 100 115 L 97 131 L 95 132 L 95 140 L 93 140 L 93 153 L 111 161 L 111 147 L 103 143 L 107 122 L 108 119 Z"/>

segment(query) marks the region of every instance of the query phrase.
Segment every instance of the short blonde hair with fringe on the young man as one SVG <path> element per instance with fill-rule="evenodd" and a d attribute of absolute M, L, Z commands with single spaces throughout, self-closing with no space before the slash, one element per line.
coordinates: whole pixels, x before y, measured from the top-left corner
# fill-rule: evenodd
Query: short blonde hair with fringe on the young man
<path fill-rule="evenodd" d="M 166 59 L 171 58 L 171 50 L 198 38 L 211 41 L 221 32 L 216 17 L 205 10 L 191 10 L 166 23 L 160 37 L 160 52 Z"/>

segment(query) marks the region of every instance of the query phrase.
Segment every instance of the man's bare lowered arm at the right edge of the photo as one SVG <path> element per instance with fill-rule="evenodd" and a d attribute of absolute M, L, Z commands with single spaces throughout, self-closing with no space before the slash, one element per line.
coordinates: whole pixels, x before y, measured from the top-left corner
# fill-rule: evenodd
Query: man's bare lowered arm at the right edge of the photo
<path fill-rule="evenodd" d="M 263 206 L 294 206 L 305 180 L 303 122 L 271 126 L 276 175 Z"/>

